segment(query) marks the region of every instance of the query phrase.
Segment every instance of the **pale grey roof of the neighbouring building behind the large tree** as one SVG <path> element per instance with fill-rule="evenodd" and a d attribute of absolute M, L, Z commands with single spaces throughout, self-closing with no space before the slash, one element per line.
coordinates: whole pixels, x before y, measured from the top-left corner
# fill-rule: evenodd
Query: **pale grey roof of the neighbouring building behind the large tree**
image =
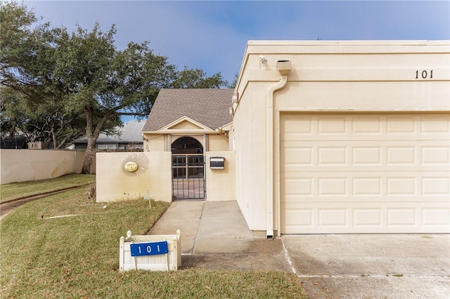
<path fill-rule="evenodd" d="M 98 136 L 96 143 L 103 142 L 143 142 L 142 141 L 142 127 L 143 121 L 128 121 L 120 128 L 120 135 L 106 135 L 101 133 Z M 87 143 L 87 138 L 82 137 L 73 141 L 73 143 Z"/>

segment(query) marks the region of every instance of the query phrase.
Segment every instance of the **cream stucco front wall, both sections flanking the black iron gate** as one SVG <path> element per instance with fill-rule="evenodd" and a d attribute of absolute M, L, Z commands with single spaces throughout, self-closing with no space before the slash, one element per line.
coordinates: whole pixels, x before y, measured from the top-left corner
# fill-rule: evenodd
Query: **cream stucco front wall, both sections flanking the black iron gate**
<path fill-rule="evenodd" d="M 211 169 L 210 157 L 224 157 L 224 169 Z M 152 199 L 172 201 L 171 152 L 97 153 L 96 159 L 98 202 L 141 198 L 147 190 Z M 124 172 L 122 165 L 126 161 L 138 161 L 142 168 L 146 168 L 145 172 L 136 175 Z M 236 200 L 235 153 L 206 152 L 205 161 L 207 200 Z"/>

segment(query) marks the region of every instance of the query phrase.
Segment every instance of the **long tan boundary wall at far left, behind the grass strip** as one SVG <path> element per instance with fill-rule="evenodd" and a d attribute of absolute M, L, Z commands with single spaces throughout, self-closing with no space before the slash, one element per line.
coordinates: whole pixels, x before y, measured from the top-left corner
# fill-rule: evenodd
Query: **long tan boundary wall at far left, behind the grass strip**
<path fill-rule="evenodd" d="M 84 151 L 0 150 L 1 185 L 81 173 Z"/>

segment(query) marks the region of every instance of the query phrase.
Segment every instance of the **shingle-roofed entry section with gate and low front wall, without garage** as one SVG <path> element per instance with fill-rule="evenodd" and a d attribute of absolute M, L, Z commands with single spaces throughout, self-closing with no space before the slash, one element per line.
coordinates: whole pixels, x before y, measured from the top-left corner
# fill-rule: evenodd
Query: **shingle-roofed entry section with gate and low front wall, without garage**
<path fill-rule="evenodd" d="M 97 154 L 97 201 L 236 200 L 232 96 L 233 89 L 162 89 L 141 131 L 143 152 Z"/>

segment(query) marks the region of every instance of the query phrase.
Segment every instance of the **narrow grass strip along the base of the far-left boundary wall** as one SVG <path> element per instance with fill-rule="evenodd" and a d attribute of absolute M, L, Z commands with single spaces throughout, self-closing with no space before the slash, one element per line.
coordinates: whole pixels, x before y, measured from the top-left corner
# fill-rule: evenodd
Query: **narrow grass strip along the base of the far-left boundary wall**
<path fill-rule="evenodd" d="M 48 180 L 32 180 L 30 182 L 12 182 L 0 185 L 0 202 L 44 194 L 79 185 L 91 184 L 96 181 L 95 175 L 72 174 Z"/>

